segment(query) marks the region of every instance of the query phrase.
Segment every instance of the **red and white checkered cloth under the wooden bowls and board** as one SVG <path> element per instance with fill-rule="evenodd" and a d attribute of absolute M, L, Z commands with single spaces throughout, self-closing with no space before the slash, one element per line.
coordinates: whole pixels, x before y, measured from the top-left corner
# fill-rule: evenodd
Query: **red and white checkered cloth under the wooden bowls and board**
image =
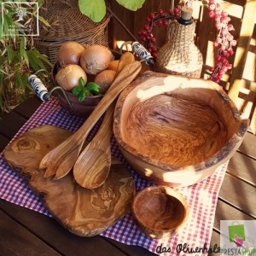
<path fill-rule="evenodd" d="M 15 137 L 39 125 L 55 125 L 70 131 L 76 131 L 83 122 L 83 118 L 73 116 L 62 109 L 53 97 L 49 102 L 42 103 Z M 99 125 L 96 124 L 94 129 L 90 132 L 88 140 L 95 135 L 98 126 Z M 114 137 L 112 137 L 111 145 L 112 154 L 118 157 L 119 160 L 125 162 L 115 143 Z M 132 170 L 131 166 L 127 163 L 125 164 L 134 178 L 137 190 L 150 185 L 150 183 Z M 189 248 L 210 247 L 218 192 L 223 183 L 227 165 L 228 163 L 219 166 L 211 177 L 208 177 L 201 183 L 177 189 L 188 201 L 190 214 L 187 224 L 170 239 L 154 240 L 145 236 L 137 228 L 137 225 L 131 218 L 131 213 L 127 213 L 124 218 L 121 218 L 112 227 L 104 231 L 101 236 L 106 236 L 128 245 L 145 247 L 153 253 L 160 253 L 161 247 L 162 251 L 167 251 L 167 253 L 161 253 L 161 255 L 207 255 L 206 249 L 202 250 L 203 253 L 178 253 L 178 248 L 185 243 L 187 243 L 187 247 Z M 9 168 L 3 159 L 3 154 L 0 154 L 0 198 L 50 216 L 44 204 L 33 194 L 32 190 L 29 189 L 23 179 Z"/>

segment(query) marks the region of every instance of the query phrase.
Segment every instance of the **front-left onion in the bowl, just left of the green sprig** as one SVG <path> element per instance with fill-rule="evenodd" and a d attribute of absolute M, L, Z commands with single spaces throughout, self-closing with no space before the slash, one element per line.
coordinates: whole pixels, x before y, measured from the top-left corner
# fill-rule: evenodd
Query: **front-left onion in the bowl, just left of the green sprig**
<path fill-rule="evenodd" d="M 79 85 L 79 79 L 83 78 L 87 83 L 87 76 L 84 69 L 76 64 L 70 64 L 62 67 L 55 76 L 56 83 L 64 90 L 72 90 L 74 86 Z"/>

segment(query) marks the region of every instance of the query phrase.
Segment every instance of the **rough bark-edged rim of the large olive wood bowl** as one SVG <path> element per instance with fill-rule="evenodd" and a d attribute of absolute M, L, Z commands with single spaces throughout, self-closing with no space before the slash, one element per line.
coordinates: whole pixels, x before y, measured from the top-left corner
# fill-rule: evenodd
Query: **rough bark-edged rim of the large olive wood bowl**
<path fill-rule="evenodd" d="M 234 119 L 236 119 L 240 125 L 238 125 L 237 131 L 233 134 L 232 137 L 224 144 L 222 148 L 218 150 L 215 154 L 212 154 L 210 158 L 207 160 L 203 160 L 199 163 L 196 163 L 193 166 L 173 166 L 173 165 L 168 165 L 165 162 L 162 162 L 160 160 L 153 160 L 151 157 L 148 157 L 146 155 L 140 154 L 137 152 L 136 148 L 131 147 L 130 144 L 125 143 L 122 140 L 122 134 L 120 132 L 120 129 L 118 127 L 118 124 L 120 124 L 120 119 L 121 119 L 121 114 L 123 111 L 123 105 L 126 99 L 126 96 L 128 96 L 132 90 L 135 90 L 137 86 L 139 85 L 140 81 L 143 81 L 143 83 L 147 80 L 150 79 L 153 76 L 158 76 L 162 78 L 166 77 L 175 77 L 179 79 L 188 79 L 183 76 L 178 76 L 178 75 L 171 75 L 171 74 L 165 74 L 165 73 L 155 73 L 155 72 L 146 72 L 143 73 L 137 80 L 133 81 L 131 84 L 129 84 L 125 90 L 121 92 L 119 95 L 118 101 L 116 103 L 116 108 L 114 112 L 114 122 L 113 122 L 113 134 L 114 137 L 116 138 L 117 143 L 119 144 L 119 147 L 125 150 L 127 154 L 132 154 L 133 157 L 135 157 L 137 160 L 143 160 L 143 162 L 155 166 L 157 168 L 161 168 L 163 172 L 180 172 L 180 171 L 190 171 L 190 172 L 204 172 L 205 169 L 208 169 L 212 166 L 215 165 L 221 165 L 224 164 L 224 162 L 227 161 L 226 157 L 229 154 L 235 154 L 236 149 L 240 147 L 242 138 L 245 136 L 247 127 L 249 125 L 249 119 L 241 119 L 240 113 L 238 109 L 236 108 L 236 105 L 230 97 L 224 92 L 223 88 L 218 85 L 215 82 L 212 82 L 210 80 L 205 80 L 205 79 L 193 79 L 193 80 L 204 80 L 208 84 L 212 86 L 214 90 L 218 92 L 218 95 L 220 98 L 227 104 L 230 105 L 230 109 L 233 113 Z M 190 79 L 191 80 L 191 79 Z M 121 125 L 119 125 L 121 126 Z"/>

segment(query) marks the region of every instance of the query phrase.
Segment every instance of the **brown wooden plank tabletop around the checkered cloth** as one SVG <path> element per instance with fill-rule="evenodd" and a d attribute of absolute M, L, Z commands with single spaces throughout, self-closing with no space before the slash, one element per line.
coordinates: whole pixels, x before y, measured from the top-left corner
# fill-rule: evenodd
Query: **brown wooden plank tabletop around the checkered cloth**
<path fill-rule="evenodd" d="M 0 121 L 0 152 L 40 103 L 37 97 L 32 97 Z M 215 244 L 219 246 L 220 220 L 225 219 L 256 219 L 256 136 L 250 132 L 247 132 L 241 147 L 231 158 L 220 189 L 212 230 L 212 248 Z M 53 218 L 0 200 L 0 255 L 154 254 L 143 247 L 128 246 L 102 236 L 74 236 Z"/>

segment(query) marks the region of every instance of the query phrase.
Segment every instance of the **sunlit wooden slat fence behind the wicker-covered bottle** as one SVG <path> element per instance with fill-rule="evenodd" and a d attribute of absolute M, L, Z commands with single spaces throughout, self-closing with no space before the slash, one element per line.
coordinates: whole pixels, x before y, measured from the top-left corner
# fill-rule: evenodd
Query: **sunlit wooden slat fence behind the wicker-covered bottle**
<path fill-rule="evenodd" d="M 137 32 L 143 28 L 148 14 L 158 9 L 167 10 L 170 7 L 169 0 L 146 0 L 142 9 L 132 12 L 124 9 L 115 0 L 109 0 L 109 3 L 113 13 L 122 20 L 135 37 L 137 37 Z M 230 24 L 235 27 L 232 34 L 238 41 L 235 55 L 230 58 L 230 63 L 234 67 L 231 73 L 224 76 L 220 85 L 229 92 L 243 117 L 251 119 L 251 128 L 256 134 L 256 1 L 229 0 L 219 1 L 219 3 L 222 9 L 230 15 Z M 213 65 L 214 51 L 212 43 L 216 38 L 217 31 L 213 21 L 208 17 L 207 7 L 201 5 L 200 1 L 195 1 L 193 16 L 196 20 L 195 44 L 201 50 L 204 58 L 201 77 L 207 78 L 207 68 Z M 153 32 L 155 38 L 157 38 L 156 45 L 161 47 L 165 44 L 166 28 L 157 27 L 154 28 Z M 133 41 L 133 38 L 120 26 L 117 20 L 112 18 L 109 24 L 110 47 L 118 49 L 119 41 Z"/>

